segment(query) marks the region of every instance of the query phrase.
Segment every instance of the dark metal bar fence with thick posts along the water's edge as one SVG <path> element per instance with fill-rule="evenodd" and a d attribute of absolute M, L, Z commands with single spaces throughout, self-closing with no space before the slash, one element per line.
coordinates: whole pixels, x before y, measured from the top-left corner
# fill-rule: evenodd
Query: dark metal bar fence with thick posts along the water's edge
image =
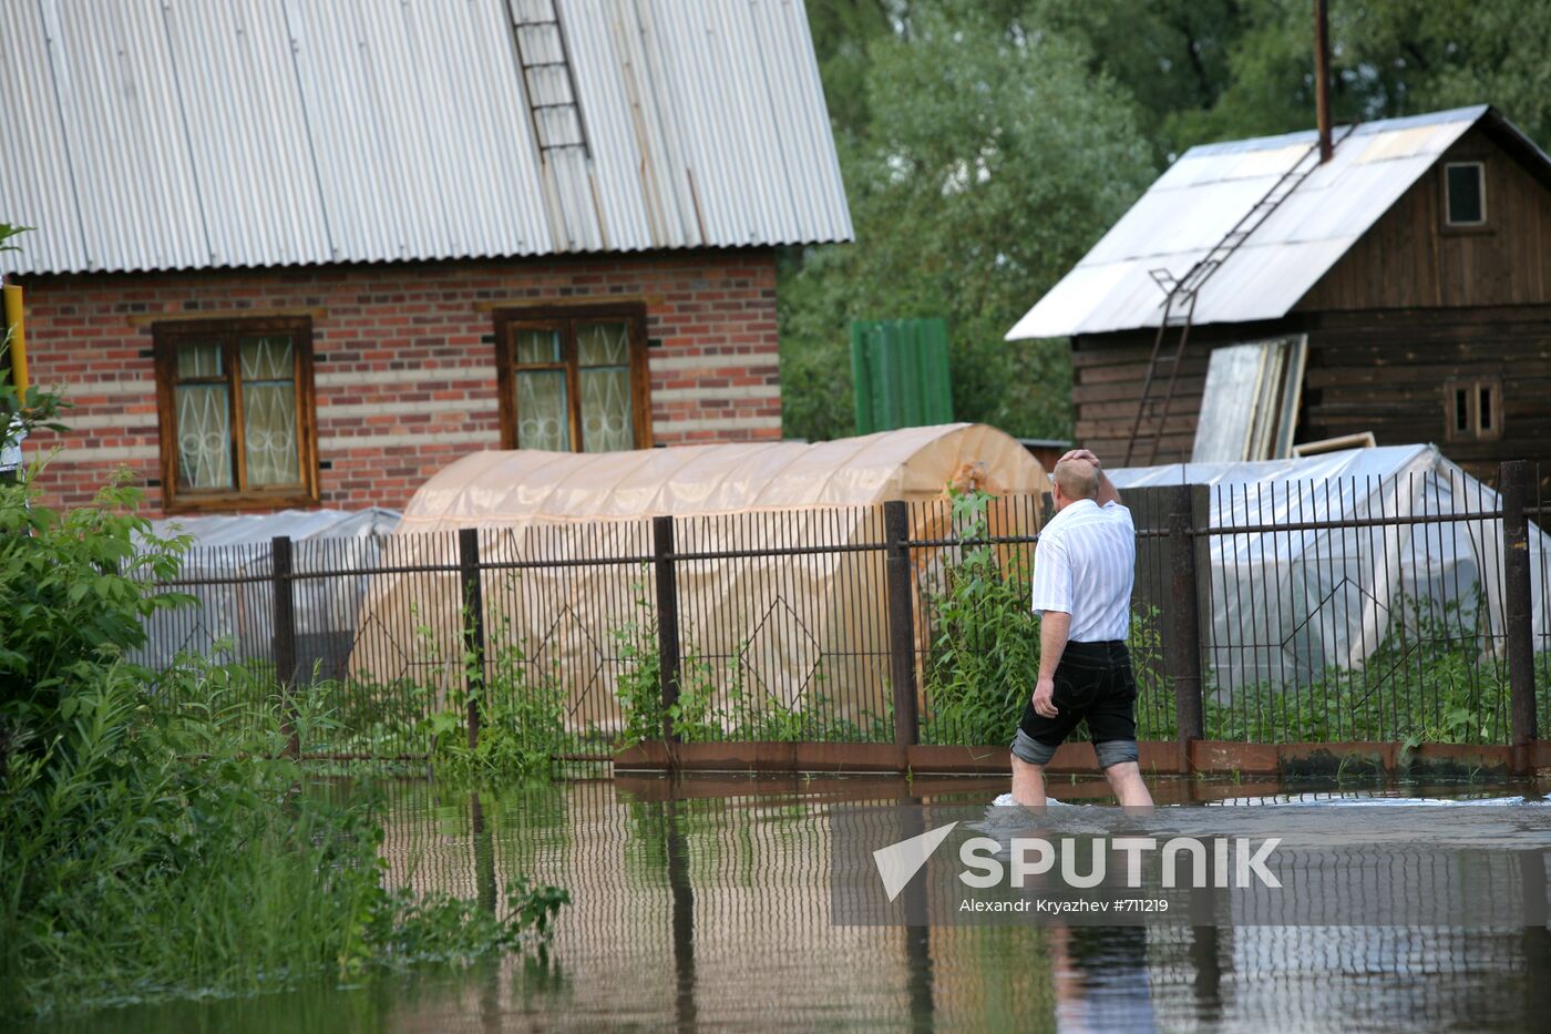
<path fill-rule="evenodd" d="M 1140 736 L 1535 739 L 1535 683 L 1551 686 L 1540 478 L 1504 464 L 1498 494 L 1430 477 L 1128 491 Z M 493 725 L 572 759 L 642 737 L 997 742 L 1035 680 L 1041 508 L 197 550 L 164 587 L 197 602 L 152 619 L 141 660 L 220 661 L 168 700 L 208 703 L 217 682 L 273 700 L 304 755 L 414 758 Z"/>

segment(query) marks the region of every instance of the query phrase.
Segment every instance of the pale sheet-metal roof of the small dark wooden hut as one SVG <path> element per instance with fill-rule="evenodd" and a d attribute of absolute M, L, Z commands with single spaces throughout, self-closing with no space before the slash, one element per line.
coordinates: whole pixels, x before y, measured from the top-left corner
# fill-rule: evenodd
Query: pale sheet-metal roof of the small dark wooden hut
<path fill-rule="evenodd" d="M 1390 210 L 1466 130 L 1491 116 L 1463 107 L 1357 126 L 1334 157 L 1294 189 L 1200 289 L 1196 323 L 1275 320 Z M 1317 143 L 1311 132 L 1191 147 L 1120 222 L 1039 300 L 1008 340 L 1155 328 L 1163 290 L 1205 256 Z M 1539 155 L 1518 135 L 1522 152 Z"/>

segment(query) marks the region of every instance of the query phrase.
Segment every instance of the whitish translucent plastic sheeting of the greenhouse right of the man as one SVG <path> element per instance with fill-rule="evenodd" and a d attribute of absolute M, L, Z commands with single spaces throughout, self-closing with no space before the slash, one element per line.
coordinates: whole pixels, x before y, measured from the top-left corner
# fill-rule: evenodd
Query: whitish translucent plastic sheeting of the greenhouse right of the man
<path fill-rule="evenodd" d="M 1501 649 L 1503 522 L 1470 519 L 1498 511 L 1501 500 L 1436 446 L 1129 467 L 1111 477 L 1120 489 L 1208 484 L 1213 528 L 1461 517 L 1210 536 L 1208 663 L 1222 692 L 1357 668 L 1387 635 L 1415 630 L 1419 599 L 1456 604 L 1449 627 L 1478 637 L 1483 652 Z M 1529 537 L 1534 627 L 1546 629 L 1543 565 L 1551 537 L 1534 525 Z M 1535 638 L 1543 646 L 1543 637 Z"/>

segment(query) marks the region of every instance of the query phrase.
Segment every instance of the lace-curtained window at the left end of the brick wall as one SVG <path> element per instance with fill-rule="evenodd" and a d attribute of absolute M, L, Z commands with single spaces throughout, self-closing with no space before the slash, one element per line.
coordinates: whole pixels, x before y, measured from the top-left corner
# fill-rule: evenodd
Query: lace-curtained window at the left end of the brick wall
<path fill-rule="evenodd" d="M 310 323 L 200 320 L 154 332 L 164 506 L 315 505 Z"/>

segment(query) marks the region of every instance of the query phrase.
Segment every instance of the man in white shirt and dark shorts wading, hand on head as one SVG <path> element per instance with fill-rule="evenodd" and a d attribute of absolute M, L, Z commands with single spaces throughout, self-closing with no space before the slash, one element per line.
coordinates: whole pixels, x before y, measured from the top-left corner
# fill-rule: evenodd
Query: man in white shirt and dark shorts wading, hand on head
<path fill-rule="evenodd" d="M 1126 652 L 1137 529 L 1087 449 L 1061 456 L 1052 495 L 1056 515 L 1035 551 L 1039 682 L 1013 737 L 1013 800 L 1044 807 L 1045 765 L 1086 720 L 1120 803 L 1151 806 L 1137 765 L 1137 683 Z"/>

